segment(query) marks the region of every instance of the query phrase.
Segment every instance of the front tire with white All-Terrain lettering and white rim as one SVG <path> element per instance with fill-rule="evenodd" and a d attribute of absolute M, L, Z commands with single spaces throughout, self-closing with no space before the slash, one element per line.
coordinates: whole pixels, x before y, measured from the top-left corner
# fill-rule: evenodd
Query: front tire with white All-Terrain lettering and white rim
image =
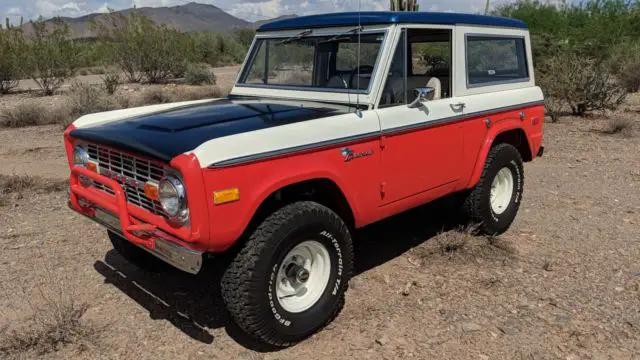
<path fill-rule="evenodd" d="M 347 226 L 330 209 L 297 202 L 271 214 L 222 277 L 222 297 L 247 333 L 292 345 L 332 321 L 353 269 Z"/>

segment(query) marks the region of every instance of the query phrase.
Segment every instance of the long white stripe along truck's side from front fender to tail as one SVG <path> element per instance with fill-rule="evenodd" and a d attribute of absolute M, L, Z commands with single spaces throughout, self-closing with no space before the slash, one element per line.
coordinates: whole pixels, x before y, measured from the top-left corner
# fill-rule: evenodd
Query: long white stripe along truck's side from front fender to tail
<path fill-rule="evenodd" d="M 473 116 L 473 113 L 494 111 L 494 109 L 499 111 L 500 108 L 519 106 L 542 101 L 542 99 L 540 88 L 530 87 L 425 102 L 423 110 L 408 109 L 406 105 L 367 110 L 362 112 L 362 118 L 350 113 L 209 140 L 198 146 L 193 154 L 202 167 L 208 167 L 233 159 L 371 134 L 381 130 L 378 112 L 384 118 L 383 130 L 391 130 L 420 123 L 428 125 L 431 121 L 446 120 L 450 117 Z M 452 111 L 449 105 L 461 101 L 465 102 L 465 109 L 459 113 Z M 407 112 L 415 116 L 407 116 Z"/>

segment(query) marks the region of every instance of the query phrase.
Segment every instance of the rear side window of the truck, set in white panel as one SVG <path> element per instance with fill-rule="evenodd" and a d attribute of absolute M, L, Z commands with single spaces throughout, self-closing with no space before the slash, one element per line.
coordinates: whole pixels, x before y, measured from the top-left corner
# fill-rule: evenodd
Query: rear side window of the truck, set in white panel
<path fill-rule="evenodd" d="M 467 87 L 529 80 L 524 38 L 468 35 Z"/>

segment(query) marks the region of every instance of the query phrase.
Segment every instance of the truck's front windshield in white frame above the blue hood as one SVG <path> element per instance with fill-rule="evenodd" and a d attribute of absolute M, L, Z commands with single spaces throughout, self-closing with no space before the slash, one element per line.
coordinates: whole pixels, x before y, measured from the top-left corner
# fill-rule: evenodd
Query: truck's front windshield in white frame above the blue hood
<path fill-rule="evenodd" d="M 253 46 L 239 84 L 322 89 L 369 89 L 384 33 L 355 31 L 326 36 L 260 38 Z"/>

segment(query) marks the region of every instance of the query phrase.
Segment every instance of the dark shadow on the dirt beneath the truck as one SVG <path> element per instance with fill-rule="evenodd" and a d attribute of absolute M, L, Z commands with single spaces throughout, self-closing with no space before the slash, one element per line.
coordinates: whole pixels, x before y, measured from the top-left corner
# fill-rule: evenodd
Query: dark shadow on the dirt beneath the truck
<path fill-rule="evenodd" d="M 458 226 L 451 217 L 447 199 L 396 215 L 353 233 L 354 275 L 382 265 L 418 246 L 438 233 Z M 220 278 L 227 258 L 204 261 L 202 270 L 191 275 L 175 269 L 159 273 L 142 270 L 128 263 L 115 250 L 94 263 L 95 270 L 111 284 L 145 308 L 153 320 L 166 320 L 190 338 L 211 344 L 211 330 L 224 328 L 241 346 L 271 352 L 245 334 L 229 317 L 220 295 Z"/>

